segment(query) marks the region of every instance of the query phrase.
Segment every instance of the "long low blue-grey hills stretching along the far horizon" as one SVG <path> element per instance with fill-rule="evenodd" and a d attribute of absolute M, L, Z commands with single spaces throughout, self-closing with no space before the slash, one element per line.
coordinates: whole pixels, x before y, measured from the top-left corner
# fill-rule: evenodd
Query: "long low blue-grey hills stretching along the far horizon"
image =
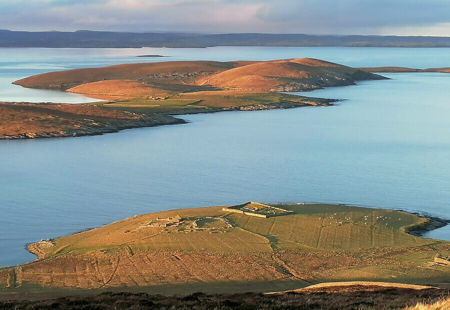
<path fill-rule="evenodd" d="M 78 30 L 0 30 L 0 47 L 209 47 L 209 46 L 361 46 L 450 47 L 450 37 L 309 35 L 273 33 L 198 34 Z"/>

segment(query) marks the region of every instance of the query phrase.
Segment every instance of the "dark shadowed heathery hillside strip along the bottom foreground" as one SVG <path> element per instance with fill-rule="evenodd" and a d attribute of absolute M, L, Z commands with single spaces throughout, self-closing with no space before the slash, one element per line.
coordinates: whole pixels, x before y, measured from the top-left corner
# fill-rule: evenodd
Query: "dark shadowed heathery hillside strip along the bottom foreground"
<path fill-rule="evenodd" d="M 149 295 L 112 293 L 85 297 L 62 297 L 39 301 L 0 302 L 0 308 L 14 309 L 358 309 L 358 310 L 448 310 L 450 290 L 425 288 L 385 288 L 379 286 L 328 286 L 297 292 L 263 294 Z"/>

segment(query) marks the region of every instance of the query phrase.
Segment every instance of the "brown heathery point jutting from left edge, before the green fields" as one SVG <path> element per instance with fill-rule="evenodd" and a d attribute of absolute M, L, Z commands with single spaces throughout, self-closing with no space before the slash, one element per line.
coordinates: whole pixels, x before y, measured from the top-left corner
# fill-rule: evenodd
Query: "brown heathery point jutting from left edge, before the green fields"
<path fill-rule="evenodd" d="M 143 116 L 91 104 L 0 102 L 0 114 L 0 138 L 71 136 L 177 122 L 166 116 Z"/>

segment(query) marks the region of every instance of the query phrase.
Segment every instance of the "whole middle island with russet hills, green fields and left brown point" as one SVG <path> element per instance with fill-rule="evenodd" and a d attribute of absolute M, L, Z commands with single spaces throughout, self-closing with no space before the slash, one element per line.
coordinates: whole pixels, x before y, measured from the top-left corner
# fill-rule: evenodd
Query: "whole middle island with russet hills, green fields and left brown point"
<path fill-rule="evenodd" d="M 327 61 L 165 61 L 74 69 L 14 84 L 105 101 L 90 104 L 0 102 L 0 138 L 77 136 L 184 122 L 170 115 L 331 105 L 332 99 L 281 91 L 352 85 L 384 77 Z"/>

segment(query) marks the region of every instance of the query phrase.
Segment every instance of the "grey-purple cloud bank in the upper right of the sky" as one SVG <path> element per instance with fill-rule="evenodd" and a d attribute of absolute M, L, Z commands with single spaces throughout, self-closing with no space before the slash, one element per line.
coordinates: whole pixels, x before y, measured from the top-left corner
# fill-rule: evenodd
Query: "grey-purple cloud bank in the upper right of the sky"
<path fill-rule="evenodd" d="M 268 22 L 296 25 L 379 27 L 450 22 L 448 0 L 284 0 L 258 12 Z"/>

